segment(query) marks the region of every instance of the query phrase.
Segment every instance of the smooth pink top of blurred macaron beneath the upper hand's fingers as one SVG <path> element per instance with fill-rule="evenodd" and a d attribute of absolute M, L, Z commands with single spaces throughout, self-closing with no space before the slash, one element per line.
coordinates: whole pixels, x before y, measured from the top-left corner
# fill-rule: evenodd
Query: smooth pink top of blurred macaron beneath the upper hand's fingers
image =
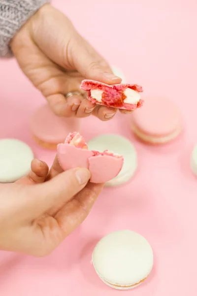
<path fill-rule="evenodd" d="M 69 132 L 78 131 L 80 124 L 79 119 L 59 117 L 48 105 L 43 105 L 33 112 L 30 126 L 38 139 L 47 143 L 61 143 Z"/>

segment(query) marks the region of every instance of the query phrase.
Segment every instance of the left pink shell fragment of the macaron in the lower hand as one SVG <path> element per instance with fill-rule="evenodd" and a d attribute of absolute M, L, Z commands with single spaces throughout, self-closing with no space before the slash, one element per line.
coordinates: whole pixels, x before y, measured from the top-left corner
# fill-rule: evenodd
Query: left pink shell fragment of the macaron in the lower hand
<path fill-rule="evenodd" d="M 88 149 L 76 148 L 69 144 L 59 144 L 57 155 L 61 167 L 66 171 L 76 167 L 88 169 L 88 158 L 93 155 L 93 152 Z"/>

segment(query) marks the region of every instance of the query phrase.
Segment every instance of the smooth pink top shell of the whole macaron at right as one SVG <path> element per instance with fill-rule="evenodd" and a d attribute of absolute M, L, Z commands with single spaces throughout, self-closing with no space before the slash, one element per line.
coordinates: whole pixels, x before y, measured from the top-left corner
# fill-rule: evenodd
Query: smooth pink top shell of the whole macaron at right
<path fill-rule="evenodd" d="M 131 114 L 131 123 L 148 135 L 165 136 L 182 125 L 178 105 L 162 97 L 145 98 L 143 108 Z"/>

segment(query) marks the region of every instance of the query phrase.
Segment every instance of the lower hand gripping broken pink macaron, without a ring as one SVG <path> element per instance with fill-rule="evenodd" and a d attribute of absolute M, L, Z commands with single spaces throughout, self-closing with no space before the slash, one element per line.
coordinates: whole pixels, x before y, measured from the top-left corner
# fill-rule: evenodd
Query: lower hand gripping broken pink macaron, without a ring
<path fill-rule="evenodd" d="M 103 185 L 87 169 L 63 172 L 34 159 L 28 176 L 0 184 L 0 249 L 33 256 L 51 253 L 89 214 Z"/>

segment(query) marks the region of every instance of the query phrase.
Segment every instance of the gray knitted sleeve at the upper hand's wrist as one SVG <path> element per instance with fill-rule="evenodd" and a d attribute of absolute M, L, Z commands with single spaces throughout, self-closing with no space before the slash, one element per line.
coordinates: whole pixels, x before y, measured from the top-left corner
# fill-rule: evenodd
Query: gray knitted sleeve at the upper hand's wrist
<path fill-rule="evenodd" d="M 50 0 L 0 0 L 0 57 L 10 57 L 9 42 L 25 22 Z"/>

